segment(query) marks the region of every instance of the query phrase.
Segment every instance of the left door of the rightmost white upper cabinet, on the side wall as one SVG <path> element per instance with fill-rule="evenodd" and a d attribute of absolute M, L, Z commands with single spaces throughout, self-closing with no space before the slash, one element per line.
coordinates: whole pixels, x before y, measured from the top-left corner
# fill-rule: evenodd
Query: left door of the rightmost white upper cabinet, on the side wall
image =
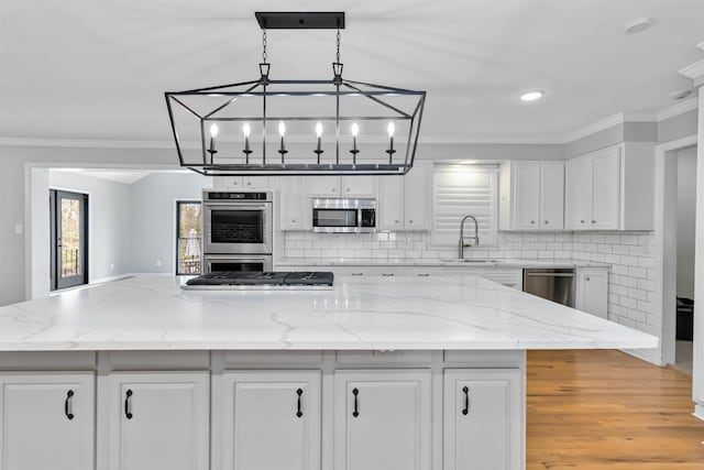
<path fill-rule="evenodd" d="M 592 221 L 592 161 L 570 160 L 564 166 L 564 214 L 568 230 L 587 230 Z"/>

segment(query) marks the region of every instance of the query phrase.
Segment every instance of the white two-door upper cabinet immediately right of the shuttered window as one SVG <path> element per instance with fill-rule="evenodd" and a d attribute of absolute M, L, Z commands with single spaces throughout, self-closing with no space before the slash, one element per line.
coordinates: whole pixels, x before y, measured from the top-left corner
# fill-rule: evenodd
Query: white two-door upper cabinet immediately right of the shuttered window
<path fill-rule="evenodd" d="M 563 229 L 563 163 L 504 163 L 499 194 L 501 230 Z"/>

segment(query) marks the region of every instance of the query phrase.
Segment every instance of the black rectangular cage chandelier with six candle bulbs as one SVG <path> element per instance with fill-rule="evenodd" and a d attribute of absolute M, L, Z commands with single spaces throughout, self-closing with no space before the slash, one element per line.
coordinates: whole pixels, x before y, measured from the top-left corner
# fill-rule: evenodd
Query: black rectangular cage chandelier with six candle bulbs
<path fill-rule="evenodd" d="M 403 175 L 426 92 L 342 78 L 341 12 L 257 12 L 260 77 L 165 94 L 182 166 L 208 176 Z M 331 79 L 270 78 L 267 29 L 337 29 Z"/>

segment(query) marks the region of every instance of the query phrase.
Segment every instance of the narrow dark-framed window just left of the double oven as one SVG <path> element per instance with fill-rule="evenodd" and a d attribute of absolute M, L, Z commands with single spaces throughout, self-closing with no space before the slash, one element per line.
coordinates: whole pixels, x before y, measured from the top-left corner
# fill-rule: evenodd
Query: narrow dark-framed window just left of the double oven
<path fill-rule="evenodd" d="M 200 274 L 199 201 L 176 201 L 176 275 Z"/>

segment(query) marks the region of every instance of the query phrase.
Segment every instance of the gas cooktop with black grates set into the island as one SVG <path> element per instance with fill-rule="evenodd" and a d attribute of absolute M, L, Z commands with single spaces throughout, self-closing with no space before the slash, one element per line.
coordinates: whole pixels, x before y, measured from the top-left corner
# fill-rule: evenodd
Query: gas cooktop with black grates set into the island
<path fill-rule="evenodd" d="M 204 274 L 188 280 L 184 289 L 331 289 L 331 272 L 235 272 Z"/>

